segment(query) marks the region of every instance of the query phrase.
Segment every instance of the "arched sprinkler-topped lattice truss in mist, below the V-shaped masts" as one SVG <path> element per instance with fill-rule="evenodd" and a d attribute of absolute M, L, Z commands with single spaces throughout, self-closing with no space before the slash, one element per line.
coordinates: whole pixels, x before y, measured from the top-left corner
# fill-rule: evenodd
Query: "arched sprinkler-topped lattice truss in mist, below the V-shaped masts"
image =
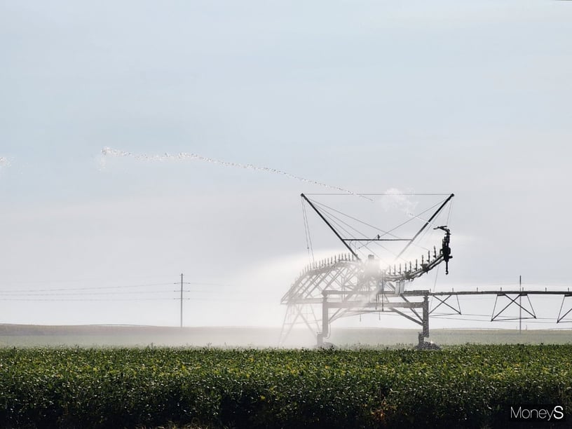
<path fill-rule="evenodd" d="M 393 311 L 423 325 L 423 315 L 416 311 L 422 308 L 423 301 L 411 301 L 404 292 L 408 282 L 444 261 L 442 252 L 435 253 L 433 259 L 430 256 L 421 265 L 405 264 L 407 268 L 399 271 L 382 271 L 376 259 L 362 261 L 351 254 L 307 266 L 282 297 L 281 304 L 287 305 L 287 311 L 281 343 L 296 325 L 306 325 L 313 333 L 327 336 L 325 318 L 329 325 L 339 318 L 363 313 Z M 326 303 L 333 313 L 325 313 Z"/>

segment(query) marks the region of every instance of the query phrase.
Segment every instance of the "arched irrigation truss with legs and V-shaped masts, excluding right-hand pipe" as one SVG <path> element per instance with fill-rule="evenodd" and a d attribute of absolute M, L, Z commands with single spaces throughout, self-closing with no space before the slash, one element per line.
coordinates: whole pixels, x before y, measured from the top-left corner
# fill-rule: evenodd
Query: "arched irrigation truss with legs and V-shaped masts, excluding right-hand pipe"
<path fill-rule="evenodd" d="M 448 264 L 451 259 L 449 247 L 451 233 L 447 226 L 433 228 L 444 231 L 442 246 L 439 252 L 433 247 L 433 254 L 428 251 L 427 254 L 422 255 L 421 264 L 416 259 L 406 261 L 404 264 L 402 262 L 398 266 L 394 265 L 393 269 L 388 267 L 381 270 L 379 260 L 375 259 L 374 255 L 370 254 L 366 260 L 362 260 L 351 245 L 359 241 L 405 241 L 407 244 L 397 254 L 399 258 L 414 243 L 414 240 L 428 229 L 428 226 L 433 226 L 431 222 L 453 196 L 451 194 L 441 203 L 413 238 L 396 239 L 386 238 L 383 235 L 377 235 L 374 238 L 344 237 L 341 231 L 329 222 L 327 214 L 320 211 L 311 200 L 302 194 L 303 205 L 306 202 L 311 206 L 350 253 L 314 262 L 306 266 L 299 277 L 294 280 L 290 290 L 281 300 L 282 304 L 287 305 L 287 311 L 280 342 L 285 341 L 294 326 L 306 325 L 308 329 L 317 334 L 318 344 L 321 344 L 323 339 L 329 335 L 329 324 L 334 320 L 379 311 L 393 311 L 418 323 L 423 327 L 423 338 L 428 336 L 427 296 L 417 294 L 407 297 L 405 285 L 428 273 L 443 261 L 446 265 Z"/>

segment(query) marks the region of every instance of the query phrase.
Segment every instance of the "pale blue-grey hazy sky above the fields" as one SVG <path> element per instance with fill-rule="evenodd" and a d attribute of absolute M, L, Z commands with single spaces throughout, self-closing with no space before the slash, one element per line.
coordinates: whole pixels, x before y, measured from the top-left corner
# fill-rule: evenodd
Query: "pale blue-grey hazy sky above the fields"
<path fill-rule="evenodd" d="M 568 286 L 571 20 L 568 1 L 0 1 L 0 322 L 177 325 L 185 273 L 185 325 L 280 325 L 299 194 L 328 189 L 104 147 L 454 192 L 437 289 Z"/>

